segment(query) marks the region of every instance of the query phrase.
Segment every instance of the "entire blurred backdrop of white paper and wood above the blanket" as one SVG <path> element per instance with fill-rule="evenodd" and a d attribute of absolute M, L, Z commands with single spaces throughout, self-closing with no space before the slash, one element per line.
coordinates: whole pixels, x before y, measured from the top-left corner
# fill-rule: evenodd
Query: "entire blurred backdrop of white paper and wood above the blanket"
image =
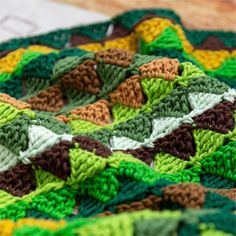
<path fill-rule="evenodd" d="M 0 42 L 104 21 L 135 8 L 170 8 L 191 29 L 236 31 L 236 0 L 0 0 Z"/>

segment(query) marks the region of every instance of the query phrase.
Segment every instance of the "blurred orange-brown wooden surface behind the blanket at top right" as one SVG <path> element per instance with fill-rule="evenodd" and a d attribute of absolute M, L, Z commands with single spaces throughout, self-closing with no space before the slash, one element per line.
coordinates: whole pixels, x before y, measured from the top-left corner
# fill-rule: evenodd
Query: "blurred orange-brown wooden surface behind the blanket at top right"
<path fill-rule="evenodd" d="M 135 8 L 170 8 L 192 29 L 236 31 L 236 0 L 55 0 L 109 16 Z"/>

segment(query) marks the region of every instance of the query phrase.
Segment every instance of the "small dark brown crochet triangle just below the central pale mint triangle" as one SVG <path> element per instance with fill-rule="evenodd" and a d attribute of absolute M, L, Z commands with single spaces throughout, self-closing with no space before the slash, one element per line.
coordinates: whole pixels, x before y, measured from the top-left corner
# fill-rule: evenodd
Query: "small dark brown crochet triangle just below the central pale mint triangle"
<path fill-rule="evenodd" d="M 145 162 L 147 165 L 150 165 L 152 163 L 153 158 L 154 158 L 154 150 L 153 150 L 153 148 L 149 148 L 149 147 L 127 149 L 123 152 L 135 156 L 139 160 Z"/>

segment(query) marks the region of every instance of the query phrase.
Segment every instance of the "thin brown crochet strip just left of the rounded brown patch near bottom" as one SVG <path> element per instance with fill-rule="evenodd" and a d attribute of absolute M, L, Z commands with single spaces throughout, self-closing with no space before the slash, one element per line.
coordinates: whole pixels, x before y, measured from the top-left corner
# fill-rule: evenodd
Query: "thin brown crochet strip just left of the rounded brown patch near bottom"
<path fill-rule="evenodd" d="M 155 195 L 149 195 L 148 197 L 132 202 L 131 204 L 121 204 L 117 206 L 118 213 L 121 212 L 133 212 L 143 209 L 159 210 L 160 209 L 161 198 Z"/>

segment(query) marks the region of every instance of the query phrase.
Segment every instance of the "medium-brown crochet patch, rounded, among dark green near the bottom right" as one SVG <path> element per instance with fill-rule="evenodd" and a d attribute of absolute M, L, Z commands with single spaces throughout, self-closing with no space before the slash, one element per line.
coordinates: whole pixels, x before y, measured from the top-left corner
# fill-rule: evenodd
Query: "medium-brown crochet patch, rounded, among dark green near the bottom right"
<path fill-rule="evenodd" d="M 182 183 L 163 188 L 163 200 L 186 208 L 201 208 L 205 201 L 204 188 L 193 183 Z"/>

